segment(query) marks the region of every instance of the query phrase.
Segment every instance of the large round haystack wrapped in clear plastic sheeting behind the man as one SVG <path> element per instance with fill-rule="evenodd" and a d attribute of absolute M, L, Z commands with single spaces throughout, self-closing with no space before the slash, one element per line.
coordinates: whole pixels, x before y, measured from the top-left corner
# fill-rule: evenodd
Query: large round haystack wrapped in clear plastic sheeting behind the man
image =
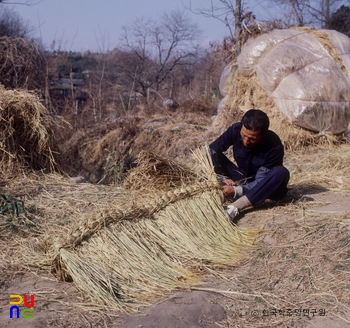
<path fill-rule="evenodd" d="M 286 148 L 339 142 L 350 124 L 349 49 L 341 33 L 311 28 L 250 39 L 224 71 L 225 98 L 214 126 L 223 130 L 260 108 Z"/>

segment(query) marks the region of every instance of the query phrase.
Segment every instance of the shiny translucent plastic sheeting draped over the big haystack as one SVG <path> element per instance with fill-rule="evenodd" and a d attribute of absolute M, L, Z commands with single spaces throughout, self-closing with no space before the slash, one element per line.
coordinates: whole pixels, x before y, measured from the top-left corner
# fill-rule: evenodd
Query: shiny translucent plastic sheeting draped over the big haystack
<path fill-rule="evenodd" d="M 325 31 L 350 72 L 350 39 Z M 349 75 L 312 35 L 273 30 L 250 39 L 238 57 L 241 74 L 256 73 L 262 88 L 297 125 L 338 134 L 350 123 Z"/>

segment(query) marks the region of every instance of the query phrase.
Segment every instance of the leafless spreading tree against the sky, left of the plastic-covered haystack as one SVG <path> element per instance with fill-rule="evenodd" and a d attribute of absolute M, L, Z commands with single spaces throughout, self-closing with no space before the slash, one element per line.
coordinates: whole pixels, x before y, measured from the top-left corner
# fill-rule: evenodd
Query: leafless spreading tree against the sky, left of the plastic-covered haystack
<path fill-rule="evenodd" d="M 184 12 L 165 13 L 160 22 L 141 18 L 123 27 L 122 44 L 130 54 L 125 74 L 147 96 L 158 91 L 178 66 L 198 60 L 201 31 Z"/>

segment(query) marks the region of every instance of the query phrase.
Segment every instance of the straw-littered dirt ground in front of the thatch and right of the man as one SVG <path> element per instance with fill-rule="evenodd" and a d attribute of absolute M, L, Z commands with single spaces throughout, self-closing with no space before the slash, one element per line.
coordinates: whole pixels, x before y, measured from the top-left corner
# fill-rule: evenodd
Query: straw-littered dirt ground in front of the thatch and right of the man
<path fill-rule="evenodd" d="M 350 327 L 348 153 L 349 145 L 287 153 L 286 199 L 247 209 L 237 220 L 239 227 L 261 230 L 256 247 L 230 268 L 203 267 L 202 284 L 164 295 L 138 313 L 99 306 L 74 283 L 18 266 L 21 249 L 10 248 L 18 236 L 1 235 L 0 327 Z M 327 166 L 330 159 L 335 164 Z M 72 193 L 85 188 L 65 184 Z M 68 202 L 62 190 L 32 186 L 32 193 L 50 194 L 53 207 Z M 10 319 L 10 294 L 26 293 L 35 295 L 34 318 Z"/>

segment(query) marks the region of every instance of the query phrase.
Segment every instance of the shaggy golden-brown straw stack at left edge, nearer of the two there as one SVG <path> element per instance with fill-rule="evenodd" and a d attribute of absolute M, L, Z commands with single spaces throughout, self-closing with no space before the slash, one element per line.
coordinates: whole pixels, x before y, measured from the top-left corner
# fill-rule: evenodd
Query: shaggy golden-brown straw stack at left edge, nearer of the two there
<path fill-rule="evenodd" d="M 0 87 L 0 171 L 57 171 L 58 147 L 53 121 L 39 98 L 26 91 Z"/>

